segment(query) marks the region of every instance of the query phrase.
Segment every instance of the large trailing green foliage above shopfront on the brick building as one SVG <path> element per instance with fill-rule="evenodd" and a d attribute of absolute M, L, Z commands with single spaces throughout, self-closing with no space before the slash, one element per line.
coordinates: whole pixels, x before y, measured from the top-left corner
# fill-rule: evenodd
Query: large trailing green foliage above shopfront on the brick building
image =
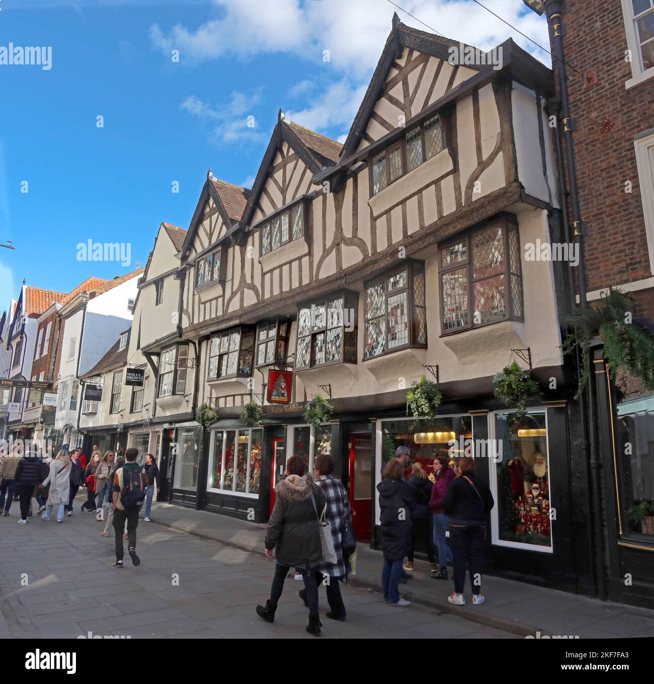
<path fill-rule="evenodd" d="M 595 306 L 578 308 L 568 322 L 575 327 L 561 348 L 564 354 L 582 352 L 582 374 L 577 399 L 590 378 L 589 345 L 599 335 L 604 343 L 604 358 L 611 378 L 618 371 L 642 380 L 648 390 L 654 390 L 654 336 L 633 319 L 636 304 L 618 287 L 602 295 Z"/>

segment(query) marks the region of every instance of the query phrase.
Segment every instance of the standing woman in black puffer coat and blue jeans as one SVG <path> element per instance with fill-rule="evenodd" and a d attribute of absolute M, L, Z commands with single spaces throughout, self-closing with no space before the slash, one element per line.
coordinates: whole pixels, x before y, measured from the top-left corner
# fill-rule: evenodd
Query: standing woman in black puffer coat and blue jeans
<path fill-rule="evenodd" d="M 386 464 L 383 479 L 377 485 L 384 555 L 381 586 L 384 601 L 395 606 L 411 605 L 399 592 L 402 562 L 411 543 L 411 516 L 415 508 L 415 499 L 403 475 L 402 464 L 393 459 Z"/>

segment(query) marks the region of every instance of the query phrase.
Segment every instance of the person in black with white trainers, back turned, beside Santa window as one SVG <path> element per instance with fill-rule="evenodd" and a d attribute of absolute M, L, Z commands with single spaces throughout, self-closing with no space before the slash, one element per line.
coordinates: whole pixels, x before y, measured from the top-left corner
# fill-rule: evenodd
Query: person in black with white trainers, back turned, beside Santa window
<path fill-rule="evenodd" d="M 472 586 L 472 603 L 477 605 L 486 600 L 481 593 L 484 540 L 486 520 L 495 501 L 488 485 L 476 475 L 474 458 L 461 458 L 459 473 L 459 477 L 450 482 L 443 500 L 443 512 L 450 516 L 448 530 L 454 562 L 454 592 L 448 596 L 448 601 L 465 605 L 463 588 L 467 568 Z"/>

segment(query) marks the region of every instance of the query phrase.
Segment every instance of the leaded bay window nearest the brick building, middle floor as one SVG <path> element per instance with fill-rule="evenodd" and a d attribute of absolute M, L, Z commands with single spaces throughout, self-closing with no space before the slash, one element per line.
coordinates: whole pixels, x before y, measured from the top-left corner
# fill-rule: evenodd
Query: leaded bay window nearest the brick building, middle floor
<path fill-rule="evenodd" d="M 523 320 L 520 241 L 502 218 L 439 250 L 442 333 Z"/>

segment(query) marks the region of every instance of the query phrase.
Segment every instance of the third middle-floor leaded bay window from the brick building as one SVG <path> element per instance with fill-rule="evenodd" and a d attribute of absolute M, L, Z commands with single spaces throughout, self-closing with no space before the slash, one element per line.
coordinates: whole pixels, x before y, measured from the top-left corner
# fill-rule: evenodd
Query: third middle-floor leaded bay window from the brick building
<path fill-rule="evenodd" d="M 297 370 L 332 363 L 357 363 L 358 296 L 343 290 L 299 306 Z"/>

